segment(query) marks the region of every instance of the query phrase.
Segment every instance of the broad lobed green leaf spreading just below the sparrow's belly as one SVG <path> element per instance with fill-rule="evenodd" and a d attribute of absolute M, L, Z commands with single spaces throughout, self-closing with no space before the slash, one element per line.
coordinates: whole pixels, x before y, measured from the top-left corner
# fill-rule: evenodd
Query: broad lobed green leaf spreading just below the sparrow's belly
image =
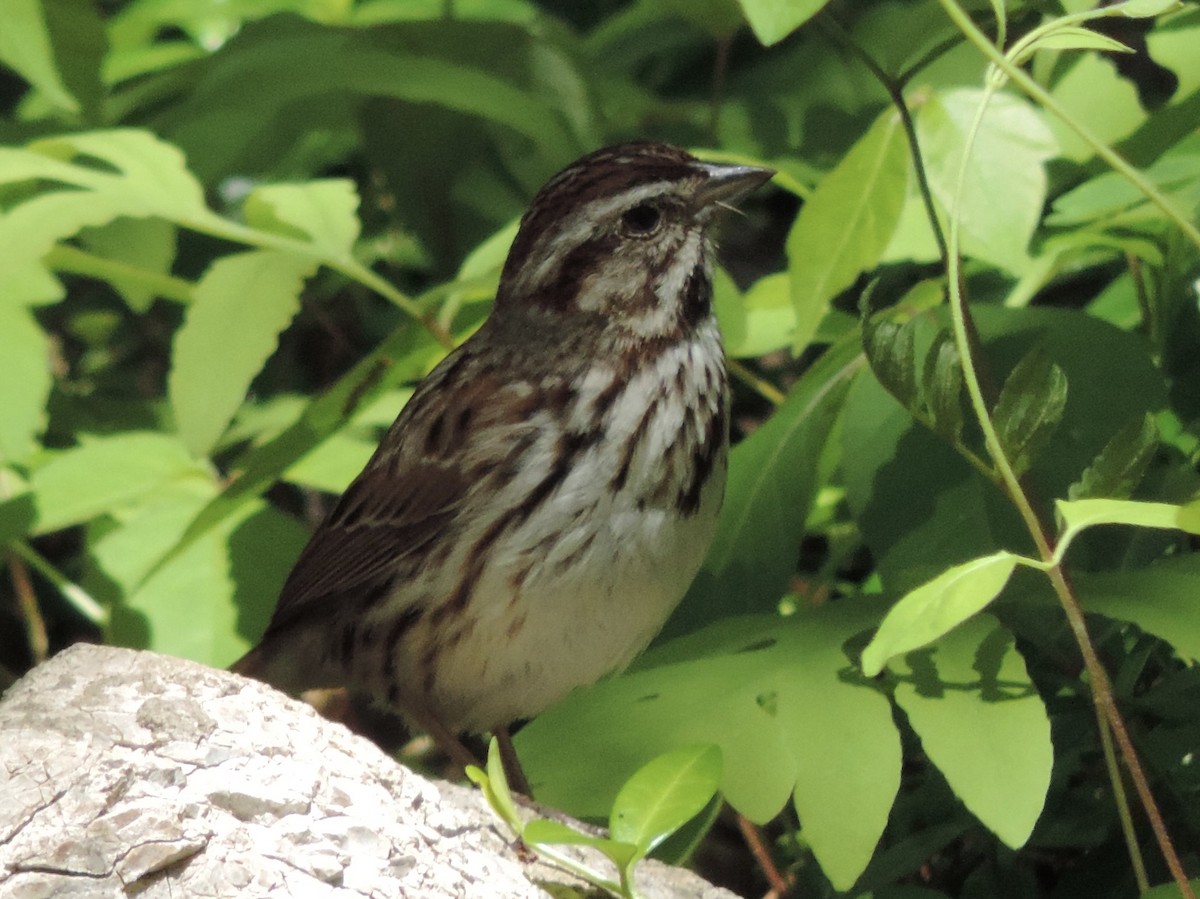
<path fill-rule="evenodd" d="M 788 619 L 725 619 L 666 643 L 643 669 L 578 690 L 522 729 L 526 773 L 540 801 L 599 816 L 648 759 L 714 743 L 730 804 L 762 822 L 791 793 L 822 869 L 847 889 L 900 784 L 890 705 L 856 679 L 841 648 L 878 613 L 856 599 Z M 588 753 L 571 747 L 571 733 L 590 735 Z"/>

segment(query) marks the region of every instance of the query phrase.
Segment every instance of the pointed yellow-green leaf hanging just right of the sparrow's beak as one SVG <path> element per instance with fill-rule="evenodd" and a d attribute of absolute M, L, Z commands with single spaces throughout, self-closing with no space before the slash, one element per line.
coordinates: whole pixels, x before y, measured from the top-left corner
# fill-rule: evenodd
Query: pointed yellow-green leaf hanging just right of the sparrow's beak
<path fill-rule="evenodd" d="M 829 301 L 880 260 L 907 182 L 908 146 L 900 118 L 888 110 L 800 208 L 787 235 L 797 350 L 812 340 Z"/>

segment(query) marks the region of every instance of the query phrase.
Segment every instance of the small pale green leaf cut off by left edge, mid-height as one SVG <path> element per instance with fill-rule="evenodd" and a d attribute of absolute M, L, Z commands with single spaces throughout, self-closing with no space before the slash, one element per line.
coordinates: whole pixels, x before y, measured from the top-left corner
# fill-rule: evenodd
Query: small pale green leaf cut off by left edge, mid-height
<path fill-rule="evenodd" d="M 28 310 L 0 304 L 0 465 L 24 462 L 46 426 L 50 342 Z"/>

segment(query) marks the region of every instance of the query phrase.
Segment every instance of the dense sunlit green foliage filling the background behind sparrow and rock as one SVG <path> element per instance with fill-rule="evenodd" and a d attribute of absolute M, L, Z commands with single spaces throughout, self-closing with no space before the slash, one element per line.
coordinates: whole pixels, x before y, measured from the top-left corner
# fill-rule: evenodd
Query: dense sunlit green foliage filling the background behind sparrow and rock
<path fill-rule="evenodd" d="M 1141 810 L 1122 826 L 1051 581 L 1010 564 L 1038 561 L 1022 508 L 1052 531 L 1055 501 L 1132 496 L 1162 514 L 1091 521 L 1153 528 L 1060 531 L 1054 570 L 1194 876 L 1200 10 L 1063 19 L 1088 6 L 4 0 L 4 677 L 80 639 L 236 658 L 330 496 L 486 314 L 538 186 L 667 139 L 779 170 L 722 235 L 730 492 L 656 646 L 520 733 L 539 797 L 604 816 L 647 760 L 715 743 L 725 799 L 803 895 L 1170 880 Z M 1063 115 L 1006 83 L 973 124 L 972 20 L 1006 48 L 1070 24 L 1019 60 Z M 696 863 L 762 892 L 733 820 L 713 803 L 665 851 L 707 833 Z"/>

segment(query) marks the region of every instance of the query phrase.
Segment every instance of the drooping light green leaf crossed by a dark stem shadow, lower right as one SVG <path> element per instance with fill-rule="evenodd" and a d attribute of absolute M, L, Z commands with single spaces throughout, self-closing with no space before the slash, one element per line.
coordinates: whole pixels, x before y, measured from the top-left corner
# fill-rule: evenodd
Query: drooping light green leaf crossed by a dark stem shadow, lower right
<path fill-rule="evenodd" d="M 950 789 L 1008 846 L 1025 845 L 1045 805 L 1054 745 L 1013 635 L 980 615 L 889 667 L 896 703 Z"/>

